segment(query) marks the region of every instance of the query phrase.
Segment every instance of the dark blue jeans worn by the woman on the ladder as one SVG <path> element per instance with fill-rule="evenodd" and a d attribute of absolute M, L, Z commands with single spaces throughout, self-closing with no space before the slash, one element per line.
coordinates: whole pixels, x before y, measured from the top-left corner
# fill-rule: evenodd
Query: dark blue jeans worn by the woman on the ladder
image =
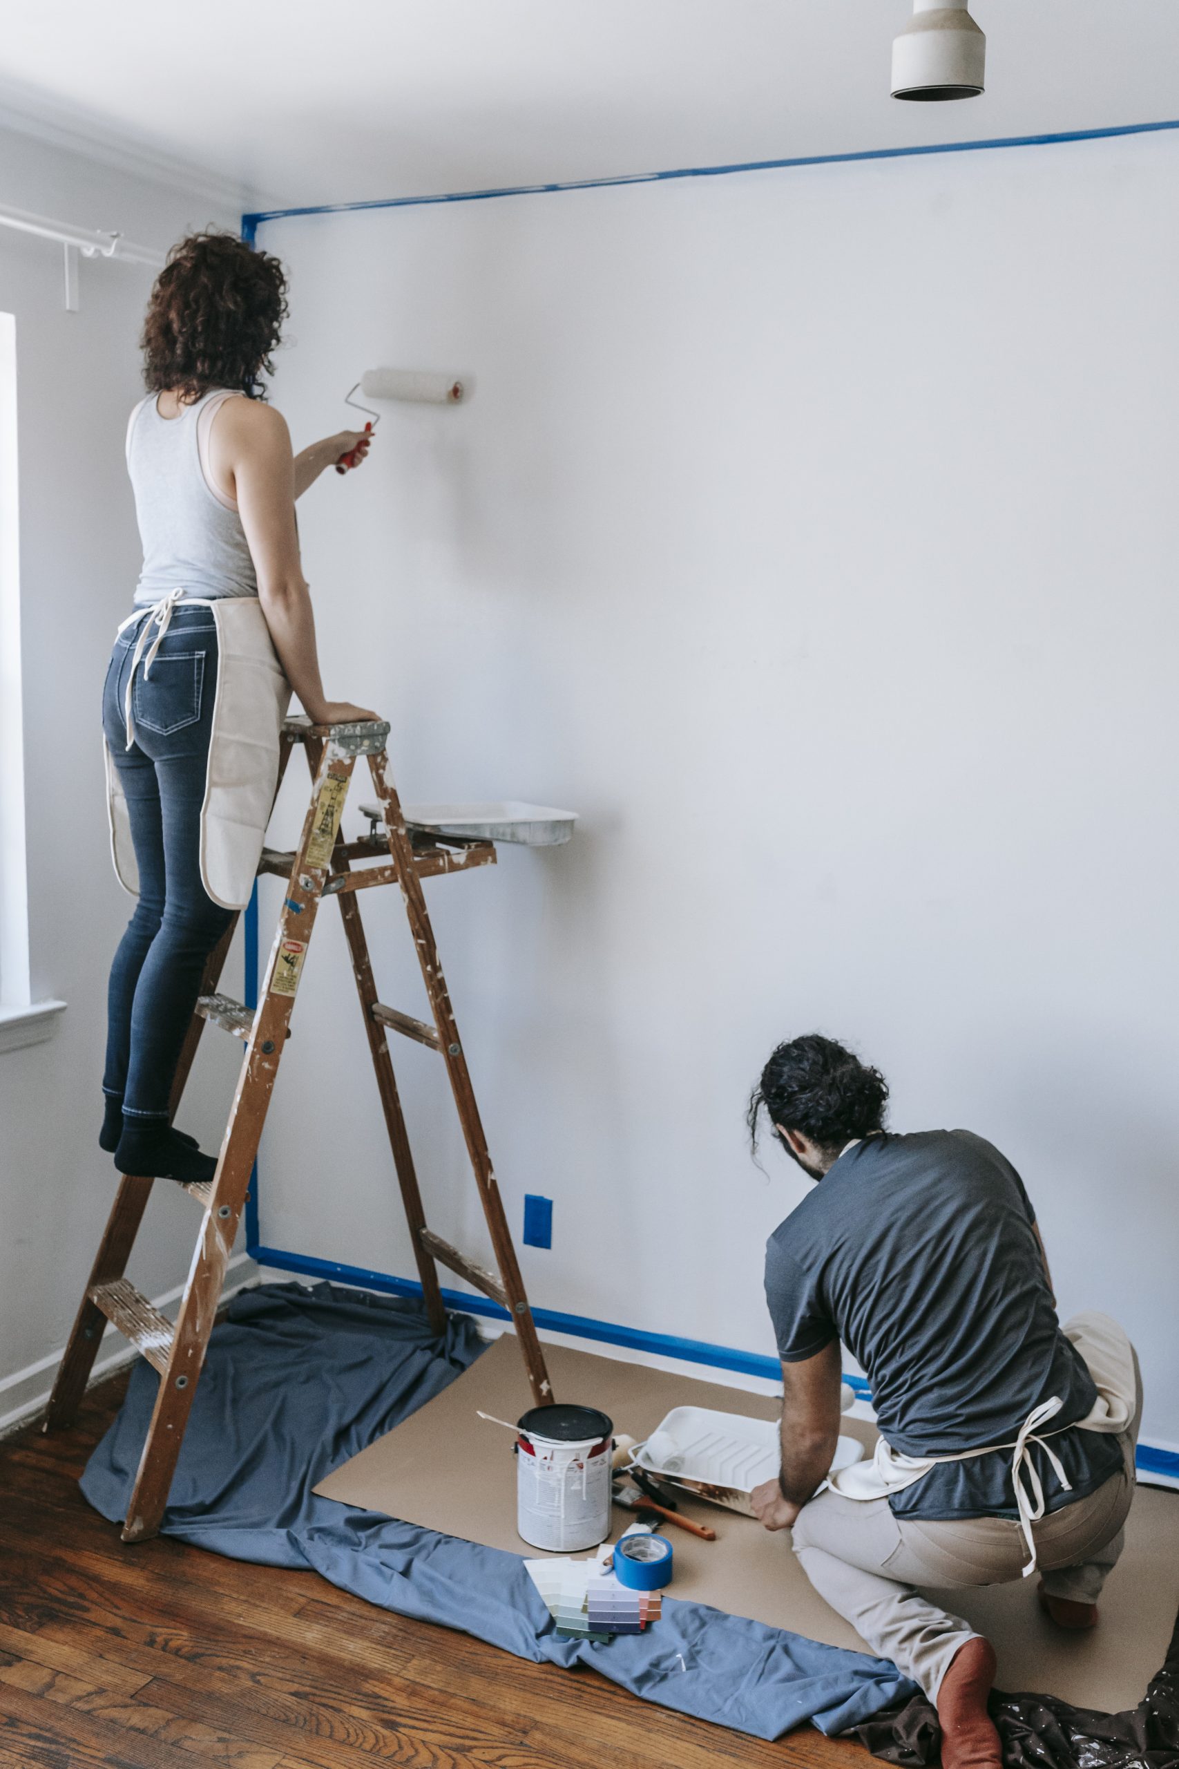
<path fill-rule="evenodd" d="M 140 902 L 111 966 L 103 1091 L 122 1099 L 131 1123 L 147 1127 L 170 1118 L 205 959 L 233 913 L 212 900 L 200 876 L 217 628 L 209 609 L 175 610 L 150 676 L 143 662 L 134 674 L 134 743 L 127 748 L 124 695 L 140 628 L 136 621 L 117 637 L 103 690 L 103 731 L 140 867 Z"/>

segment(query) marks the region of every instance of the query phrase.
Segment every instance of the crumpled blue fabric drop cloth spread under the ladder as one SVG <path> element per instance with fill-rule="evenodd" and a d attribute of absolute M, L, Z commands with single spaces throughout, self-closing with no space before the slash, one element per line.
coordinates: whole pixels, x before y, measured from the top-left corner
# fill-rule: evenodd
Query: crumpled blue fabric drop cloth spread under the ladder
<path fill-rule="evenodd" d="M 608 1645 L 560 1640 L 523 1557 L 315 1497 L 318 1481 L 481 1350 L 468 1316 L 451 1316 L 438 1341 L 417 1304 L 392 1297 L 331 1284 L 242 1291 L 209 1343 L 164 1534 L 235 1560 L 313 1567 L 385 1610 L 537 1663 L 590 1665 L 650 1702 L 760 1739 L 806 1719 L 845 1732 L 916 1693 L 886 1659 L 700 1603 L 666 1599 L 658 1626 Z M 157 1382 L 136 1364 L 81 1479 L 111 1521 L 126 1514 Z"/>

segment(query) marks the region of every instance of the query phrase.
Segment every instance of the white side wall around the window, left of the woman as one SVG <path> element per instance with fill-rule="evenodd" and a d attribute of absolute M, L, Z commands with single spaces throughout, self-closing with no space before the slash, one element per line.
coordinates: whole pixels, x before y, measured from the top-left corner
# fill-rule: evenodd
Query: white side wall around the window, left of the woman
<path fill-rule="evenodd" d="M 235 225 L 224 202 L 5 129 L 0 186 L 7 203 L 161 251 L 191 226 Z M 83 260 L 80 285 L 67 313 L 60 246 L 0 228 L 18 350 L 32 994 L 67 1003 L 48 1044 L 0 1053 L 0 1419 L 48 1387 L 115 1194 L 97 1130 L 106 973 L 131 899 L 110 865 L 101 693 L 140 570 L 122 442 L 152 271 Z M 182 1122 L 216 1146 L 235 1053 L 205 1042 Z M 182 1281 L 196 1229 L 187 1198 L 156 1191 L 131 1267 L 148 1295 Z"/>

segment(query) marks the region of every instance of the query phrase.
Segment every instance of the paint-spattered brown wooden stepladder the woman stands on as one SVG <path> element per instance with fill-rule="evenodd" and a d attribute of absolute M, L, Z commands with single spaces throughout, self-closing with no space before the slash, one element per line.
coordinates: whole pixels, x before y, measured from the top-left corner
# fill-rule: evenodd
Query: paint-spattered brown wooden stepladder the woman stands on
<path fill-rule="evenodd" d="M 438 1334 L 445 1329 L 445 1307 L 435 1265 L 438 1261 L 507 1309 L 520 1339 L 536 1405 L 543 1406 L 553 1398 L 544 1369 L 544 1353 L 536 1336 L 532 1311 L 520 1277 L 516 1249 L 491 1169 L 491 1157 L 483 1136 L 479 1107 L 475 1106 L 422 893 L 422 879 L 426 877 L 493 865 L 495 847 L 491 842 L 437 837 L 412 826 L 407 828 L 396 789 L 389 778 L 385 757 L 387 736 L 389 725 L 384 722 L 311 725 L 306 718 L 290 718 L 285 724 L 279 782 L 292 747 L 302 743 L 313 789 L 299 847 L 293 853 L 276 853 L 274 849 L 263 849 L 262 853 L 258 870 L 285 877 L 286 899 L 279 915 L 258 1007 L 251 1010 L 216 992 L 233 936 L 233 929 L 230 927 L 205 969 L 205 992 L 198 1001 L 173 1088 L 171 1104 L 175 1111 L 193 1058 L 196 1056 L 205 1021 L 223 1026 L 246 1042 L 246 1054 L 221 1143 L 217 1171 L 209 1183 L 184 1187 L 203 1208 L 203 1226 L 193 1252 L 193 1265 L 175 1329 L 124 1277 L 148 1194 L 156 1183 L 148 1178 L 126 1175 L 118 1183 L 115 1205 L 90 1272 L 78 1320 L 74 1321 L 57 1382 L 53 1383 L 44 1421 L 46 1431 L 72 1424 L 106 1321 L 111 1321 L 159 1371 L 159 1394 L 122 1530 L 126 1543 L 145 1541 L 156 1535 L 168 1502 L 168 1489 L 180 1454 L 180 1442 L 193 1406 L 196 1382 L 205 1360 L 205 1348 L 212 1332 L 224 1270 L 246 1205 L 249 1175 L 274 1091 L 279 1056 L 290 1037 L 288 1028 L 299 976 L 323 897 L 338 897 L 339 900 L 357 994 L 364 1014 L 368 1045 L 373 1068 L 377 1070 L 377 1088 L 414 1240 L 414 1256 L 430 1325 Z M 384 839 L 369 835 L 355 842 L 345 842 L 339 819 L 348 796 L 352 771 L 361 757 L 368 759 L 373 787 L 384 812 Z M 354 862 L 357 860 L 382 860 L 384 863 L 354 870 Z M 401 886 L 401 899 L 421 964 L 422 982 L 426 984 L 433 1024 L 401 1014 L 398 1008 L 385 1007 L 377 998 L 373 966 L 368 955 L 368 939 L 364 938 L 357 900 L 361 890 L 377 884 Z M 470 1155 L 475 1187 L 483 1203 L 491 1247 L 495 1249 L 498 1275 L 458 1252 L 458 1249 L 451 1247 L 449 1242 L 426 1226 L 414 1155 L 392 1072 L 389 1031 L 399 1031 L 407 1038 L 438 1051 L 447 1067 L 454 1106 L 467 1141 L 467 1153 Z"/>

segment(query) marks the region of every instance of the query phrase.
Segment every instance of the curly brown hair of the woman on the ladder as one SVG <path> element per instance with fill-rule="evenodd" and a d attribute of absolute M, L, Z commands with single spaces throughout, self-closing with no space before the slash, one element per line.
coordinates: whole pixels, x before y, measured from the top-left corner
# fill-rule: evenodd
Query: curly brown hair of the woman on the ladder
<path fill-rule="evenodd" d="M 148 393 L 189 403 L 210 387 L 262 396 L 286 318 L 286 274 L 269 251 L 235 234 L 191 234 L 168 253 L 143 320 Z"/>

